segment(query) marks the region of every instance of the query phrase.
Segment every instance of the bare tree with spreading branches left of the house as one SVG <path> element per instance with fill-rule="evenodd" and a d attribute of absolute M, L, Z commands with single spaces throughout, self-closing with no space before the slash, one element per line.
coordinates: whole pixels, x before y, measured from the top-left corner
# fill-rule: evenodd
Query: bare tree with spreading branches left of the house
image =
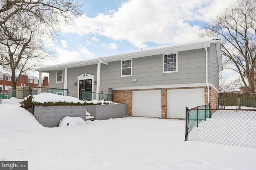
<path fill-rule="evenodd" d="M 2 0 L 0 6 L 0 65 L 11 72 L 16 90 L 20 74 L 49 59 L 47 39 L 58 38 L 82 10 L 79 0 Z"/>

